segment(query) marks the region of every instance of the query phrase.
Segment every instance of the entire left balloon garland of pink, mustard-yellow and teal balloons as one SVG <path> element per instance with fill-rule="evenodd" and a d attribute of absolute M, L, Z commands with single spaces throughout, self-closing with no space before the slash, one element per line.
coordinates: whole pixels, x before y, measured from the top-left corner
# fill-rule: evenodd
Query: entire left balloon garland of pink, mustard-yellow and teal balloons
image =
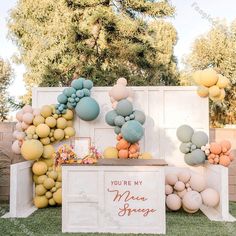
<path fill-rule="evenodd" d="M 61 168 L 54 166 L 55 150 L 52 143 L 75 135 L 73 118 L 75 110 L 85 121 L 97 118 L 100 108 L 90 97 L 91 80 L 78 78 L 71 87 L 57 97 L 58 104 L 33 109 L 25 105 L 16 113 L 16 130 L 12 151 L 26 160 L 34 160 L 32 166 L 35 186 L 34 204 L 37 208 L 61 205 Z M 72 151 L 71 151 L 72 152 Z M 69 153 L 68 155 L 72 155 Z"/>

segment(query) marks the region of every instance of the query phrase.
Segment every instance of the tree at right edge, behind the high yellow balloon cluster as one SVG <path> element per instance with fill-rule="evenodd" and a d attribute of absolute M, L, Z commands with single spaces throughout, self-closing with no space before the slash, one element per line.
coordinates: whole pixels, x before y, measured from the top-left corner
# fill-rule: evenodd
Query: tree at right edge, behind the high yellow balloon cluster
<path fill-rule="evenodd" d="M 212 126 L 236 124 L 236 21 L 230 26 L 218 21 L 205 35 L 197 38 L 186 58 L 187 70 L 213 67 L 231 81 L 223 102 L 210 102 Z M 191 77 L 189 77 L 191 80 Z"/>

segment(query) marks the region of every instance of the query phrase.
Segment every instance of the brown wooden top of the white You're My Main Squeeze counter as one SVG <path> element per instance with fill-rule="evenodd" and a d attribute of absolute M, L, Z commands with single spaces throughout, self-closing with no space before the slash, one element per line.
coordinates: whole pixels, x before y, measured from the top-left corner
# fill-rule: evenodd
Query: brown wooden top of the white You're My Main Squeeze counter
<path fill-rule="evenodd" d="M 167 166 L 163 159 L 99 159 L 95 164 L 63 164 L 62 166 Z"/>

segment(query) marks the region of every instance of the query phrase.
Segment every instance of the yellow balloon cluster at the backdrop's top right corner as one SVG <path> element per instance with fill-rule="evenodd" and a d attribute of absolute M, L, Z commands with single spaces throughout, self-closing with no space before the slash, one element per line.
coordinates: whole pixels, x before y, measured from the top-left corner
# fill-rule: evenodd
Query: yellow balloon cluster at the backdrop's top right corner
<path fill-rule="evenodd" d="M 199 85 L 197 93 L 200 97 L 209 97 L 212 101 L 222 101 L 225 98 L 225 88 L 230 81 L 225 76 L 218 74 L 214 69 L 196 71 L 193 79 Z"/>

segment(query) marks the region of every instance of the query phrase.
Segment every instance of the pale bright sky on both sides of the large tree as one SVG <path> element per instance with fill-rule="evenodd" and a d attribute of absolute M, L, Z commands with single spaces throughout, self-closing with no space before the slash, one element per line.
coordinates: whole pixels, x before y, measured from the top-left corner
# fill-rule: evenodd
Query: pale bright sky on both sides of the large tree
<path fill-rule="evenodd" d="M 17 47 L 7 37 L 7 19 L 10 9 L 14 8 L 17 0 L 0 1 L 0 56 L 11 61 L 12 55 L 18 53 Z M 175 55 L 179 68 L 183 68 L 182 58 L 191 50 L 194 40 L 206 33 L 212 26 L 212 18 L 226 19 L 228 23 L 236 18 L 234 0 L 171 0 L 176 7 L 176 14 L 170 21 L 177 30 L 178 42 Z M 23 65 L 12 64 L 15 79 L 9 88 L 11 96 L 21 96 L 25 93 Z"/>

